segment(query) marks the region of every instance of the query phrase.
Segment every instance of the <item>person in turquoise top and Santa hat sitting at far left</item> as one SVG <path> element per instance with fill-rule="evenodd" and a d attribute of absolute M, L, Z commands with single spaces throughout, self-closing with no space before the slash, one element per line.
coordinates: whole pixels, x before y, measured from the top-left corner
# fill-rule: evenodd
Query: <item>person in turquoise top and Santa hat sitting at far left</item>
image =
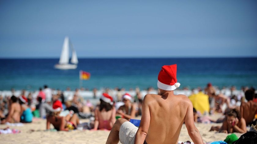
<path fill-rule="evenodd" d="M 28 99 L 24 95 L 22 95 L 19 97 L 19 103 L 20 103 L 20 107 L 21 107 L 20 121 L 23 123 L 31 123 L 33 114 L 31 112 L 30 107 L 28 107 L 28 105 L 27 105 Z"/>

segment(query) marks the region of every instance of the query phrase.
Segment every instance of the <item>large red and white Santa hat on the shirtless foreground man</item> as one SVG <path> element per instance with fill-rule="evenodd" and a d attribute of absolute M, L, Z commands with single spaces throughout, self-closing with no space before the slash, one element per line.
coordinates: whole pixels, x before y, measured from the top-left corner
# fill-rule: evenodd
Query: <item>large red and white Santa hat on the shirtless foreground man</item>
<path fill-rule="evenodd" d="M 177 82 L 177 64 L 162 67 L 158 75 L 157 86 L 166 91 L 173 91 L 180 86 Z"/>

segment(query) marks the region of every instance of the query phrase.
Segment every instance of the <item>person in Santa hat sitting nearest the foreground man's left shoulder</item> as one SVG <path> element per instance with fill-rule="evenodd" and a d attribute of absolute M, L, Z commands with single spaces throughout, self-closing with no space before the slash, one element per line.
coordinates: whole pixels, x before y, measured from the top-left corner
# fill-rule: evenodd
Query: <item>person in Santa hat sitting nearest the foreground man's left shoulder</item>
<path fill-rule="evenodd" d="M 122 118 L 130 120 L 136 117 L 136 105 L 132 103 L 132 96 L 129 93 L 125 93 L 122 96 L 123 106 L 120 106 L 117 113 L 121 114 Z"/>

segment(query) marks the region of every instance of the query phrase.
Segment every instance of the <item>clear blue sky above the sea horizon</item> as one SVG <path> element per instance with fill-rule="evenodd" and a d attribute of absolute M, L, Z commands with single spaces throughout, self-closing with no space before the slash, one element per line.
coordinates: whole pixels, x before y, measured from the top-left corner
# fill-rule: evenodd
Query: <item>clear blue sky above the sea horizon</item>
<path fill-rule="evenodd" d="M 257 1 L 1 0 L 0 58 L 257 57 Z"/>

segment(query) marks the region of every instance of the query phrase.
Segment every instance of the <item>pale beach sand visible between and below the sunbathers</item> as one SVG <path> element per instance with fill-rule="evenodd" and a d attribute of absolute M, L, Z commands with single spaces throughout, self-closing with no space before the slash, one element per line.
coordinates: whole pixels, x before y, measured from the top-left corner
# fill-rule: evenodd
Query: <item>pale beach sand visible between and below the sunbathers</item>
<path fill-rule="evenodd" d="M 217 119 L 221 115 L 214 114 L 211 116 L 213 119 Z M 140 117 L 137 117 L 140 118 Z M 88 122 L 88 119 L 81 119 L 81 122 Z M 196 127 L 201 133 L 203 142 L 213 142 L 224 140 L 228 134 L 217 133 L 215 131 L 209 131 L 212 125 L 219 124 L 202 124 L 196 123 Z M 6 128 L 8 125 L 0 125 L 0 129 Z M 74 130 L 74 131 L 45 131 L 46 120 L 45 119 L 34 119 L 32 123 L 24 124 L 23 126 L 9 126 L 9 128 L 15 128 L 21 132 L 18 134 L 0 134 L 0 143 L 41 143 L 41 144 L 104 144 L 110 133 L 110 131 L 90 131 L 90 130 Z M 51 126 L 51 128 L 53 128 Z M 248 128 L 249 130 L 249 128 Z M 235 133 L 240 137 L 240 133 Z M 183 124 L 181 129 L 179 141 L 191 141 L 187 129 Z"/>

